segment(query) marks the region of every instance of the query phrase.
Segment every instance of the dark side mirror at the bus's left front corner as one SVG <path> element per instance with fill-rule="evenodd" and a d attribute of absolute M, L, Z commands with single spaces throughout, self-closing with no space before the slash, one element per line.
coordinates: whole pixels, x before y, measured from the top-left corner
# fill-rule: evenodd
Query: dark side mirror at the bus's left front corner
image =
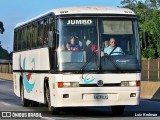
<path fill-rule="evenodd" d="M 48 32 L 48 46 L 49 48 L 55 48 L 55 34 L 53 31 Z"/>

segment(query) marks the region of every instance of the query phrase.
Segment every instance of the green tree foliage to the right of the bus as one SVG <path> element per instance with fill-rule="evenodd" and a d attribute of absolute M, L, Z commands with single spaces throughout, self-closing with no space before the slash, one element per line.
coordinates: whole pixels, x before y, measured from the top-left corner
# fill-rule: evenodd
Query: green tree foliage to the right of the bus
<path fill-rule="evenodd" d="M 139 20 L 139 34 L 148 33 L 149 46 L 142 49 L 145 58 L 160 58 L 160 0 L 122 0 L 123 7 L 132 9 Z"/>

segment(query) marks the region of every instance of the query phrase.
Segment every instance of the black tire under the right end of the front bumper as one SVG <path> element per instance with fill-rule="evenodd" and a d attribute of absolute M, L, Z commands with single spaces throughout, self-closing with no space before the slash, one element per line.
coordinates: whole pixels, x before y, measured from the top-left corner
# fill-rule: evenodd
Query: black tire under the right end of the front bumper
<path fill-rule="evenodd" d="M 112 114 L 115 116 L 122 116 L 125 106 L 111 106 Z"/>

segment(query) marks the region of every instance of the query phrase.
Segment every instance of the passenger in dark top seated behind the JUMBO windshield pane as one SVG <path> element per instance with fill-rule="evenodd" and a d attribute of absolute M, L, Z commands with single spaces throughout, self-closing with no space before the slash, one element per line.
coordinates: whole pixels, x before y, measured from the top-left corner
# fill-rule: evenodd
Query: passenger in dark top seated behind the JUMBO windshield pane
<path fill-rule="evenodd" d="M 77 51 L 77 50 L 79 50 L 79 45 L 77 45 L 76 43 L 75 43 L 75 38 L 74 38 L 74 36 L 71 36 L 70 37 L 70 43 L 67 43 L 66 44 L 66 48 L 67 48 L 67 50 L 69 50 L 69 51 Z"/>

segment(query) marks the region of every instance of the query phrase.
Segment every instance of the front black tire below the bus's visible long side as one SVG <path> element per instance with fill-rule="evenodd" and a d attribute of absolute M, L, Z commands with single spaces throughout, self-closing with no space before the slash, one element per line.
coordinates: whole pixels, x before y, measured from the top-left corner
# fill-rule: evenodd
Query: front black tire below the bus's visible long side
<path fill-rule="evenodd" d="M 45 84 L 45 100 L 46 100 L 46 104 L 48 106 L 49 112 L 54 115 L 59 114 L 58 108 L 51 106 L 50 89 L 47 83 Z"/>

